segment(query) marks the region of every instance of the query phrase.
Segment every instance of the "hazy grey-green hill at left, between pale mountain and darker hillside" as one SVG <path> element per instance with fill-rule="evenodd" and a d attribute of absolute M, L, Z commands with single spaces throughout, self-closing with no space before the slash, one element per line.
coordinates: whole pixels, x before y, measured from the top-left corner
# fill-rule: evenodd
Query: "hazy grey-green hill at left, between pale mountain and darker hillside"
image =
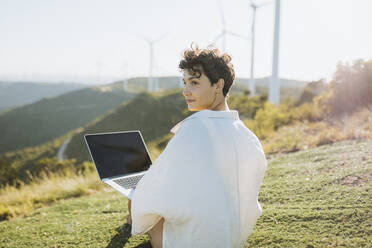
<path fill-rule="evenodd" d="M 134 97 L 111 86 L 84 88 L 0 113 L 0 154 L 60 137 Z"/>

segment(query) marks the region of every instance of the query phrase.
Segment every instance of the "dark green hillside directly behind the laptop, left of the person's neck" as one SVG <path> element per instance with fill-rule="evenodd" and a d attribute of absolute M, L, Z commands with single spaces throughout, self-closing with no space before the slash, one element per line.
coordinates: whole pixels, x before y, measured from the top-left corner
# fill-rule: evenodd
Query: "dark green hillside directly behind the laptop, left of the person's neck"
<path fill-rule="evenodd" d="M 169 91 L 159 96 L 139 94 L 132 101 L 86 125 L 76 133 L 67 145 L 64 156 L 76 158 L 78 162 L 88 160 L 89 156 L 84 134 L 140 130 L 149 144 L 169 134 L 169 130 L 187 115 L 187 105 L 180 90 Z M 149 148 L 150 151 L 152 148 Z"/>

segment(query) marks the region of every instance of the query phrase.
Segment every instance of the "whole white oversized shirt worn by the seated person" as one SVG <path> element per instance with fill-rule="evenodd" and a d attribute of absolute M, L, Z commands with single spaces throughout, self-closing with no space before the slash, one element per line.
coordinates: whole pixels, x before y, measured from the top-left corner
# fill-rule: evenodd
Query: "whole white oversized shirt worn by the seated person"
<path fill-rule="evenodd" d="M 241 247 L 262 214 L 258 202 L 267 161 L 236 110 L 202 110 L 175 135 L 137 184 L 132 234 L 164 217 L 163 247 Z"/>

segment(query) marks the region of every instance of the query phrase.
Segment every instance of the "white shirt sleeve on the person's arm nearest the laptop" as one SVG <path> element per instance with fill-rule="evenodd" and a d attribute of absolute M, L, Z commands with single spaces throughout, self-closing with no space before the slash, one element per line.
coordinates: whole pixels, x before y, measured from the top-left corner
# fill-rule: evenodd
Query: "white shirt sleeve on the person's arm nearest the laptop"
<path fill-rule="evenodd" d="M 161 217 L 173 223 L 191 218 L 193 203 L 200 197 L 194 189 L 205 183 L 202 170 L 213 158 L 208 140 L 201 122 L 188 120 L 182 124 L 136 186 L 132 234 L 146 233 Z"/>

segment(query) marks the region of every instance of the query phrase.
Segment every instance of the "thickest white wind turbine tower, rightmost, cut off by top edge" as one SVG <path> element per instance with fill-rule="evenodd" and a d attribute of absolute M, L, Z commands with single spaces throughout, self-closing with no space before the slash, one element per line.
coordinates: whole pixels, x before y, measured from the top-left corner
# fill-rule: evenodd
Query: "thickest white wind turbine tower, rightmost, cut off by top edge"
<path fill-rule="evenodd" d="M 272 102 L 277 105 L 279 105 L 280 103 L 280 80 L 278 78 L 279 22 L 280 22 L 280 0 L 275 0 L 273 69 L 272 69 L 270 88 L 269 88 L 269 102 Z"/>

